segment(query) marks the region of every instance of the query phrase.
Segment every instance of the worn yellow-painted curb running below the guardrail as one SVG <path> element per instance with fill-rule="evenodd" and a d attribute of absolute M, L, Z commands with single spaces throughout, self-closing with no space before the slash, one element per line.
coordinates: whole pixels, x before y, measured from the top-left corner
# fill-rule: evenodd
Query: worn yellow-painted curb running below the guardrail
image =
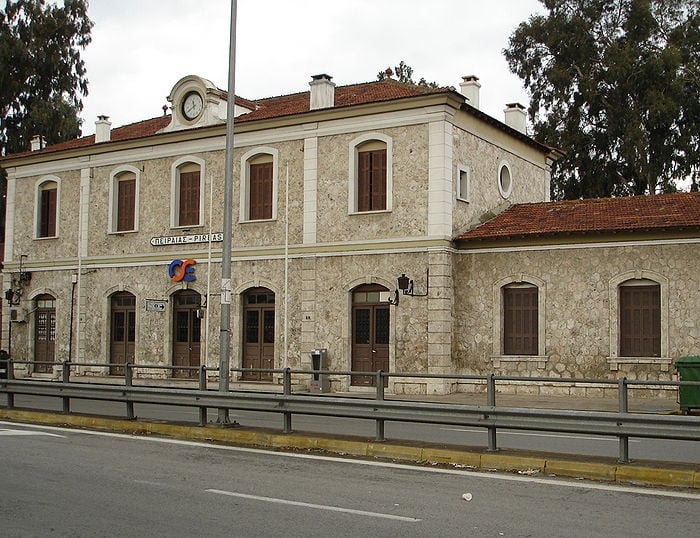
<path fill-rule="evenodd" d="M 414 464 L 442 464 L 480 471 L 506 471 L 525 475 L 556 475 L 621 484 L 700 489 L 700 464 L 634 462 L 613 458 L 567 456 L 527 451 L 486 452 L 442 445 L 327 436 L 317 433 L 283 434 L 254 428 L 227 428 L 215 424 L 193 426 L 170 422 L 111 419 L 0 408 L 0 418 L 52 426 L 106 430 L 134 435 L 162 435 L 194 441 L 215 441 L 236 446 L 277 450 L 320 450 L 341 456 L 382 458 Z"/>

